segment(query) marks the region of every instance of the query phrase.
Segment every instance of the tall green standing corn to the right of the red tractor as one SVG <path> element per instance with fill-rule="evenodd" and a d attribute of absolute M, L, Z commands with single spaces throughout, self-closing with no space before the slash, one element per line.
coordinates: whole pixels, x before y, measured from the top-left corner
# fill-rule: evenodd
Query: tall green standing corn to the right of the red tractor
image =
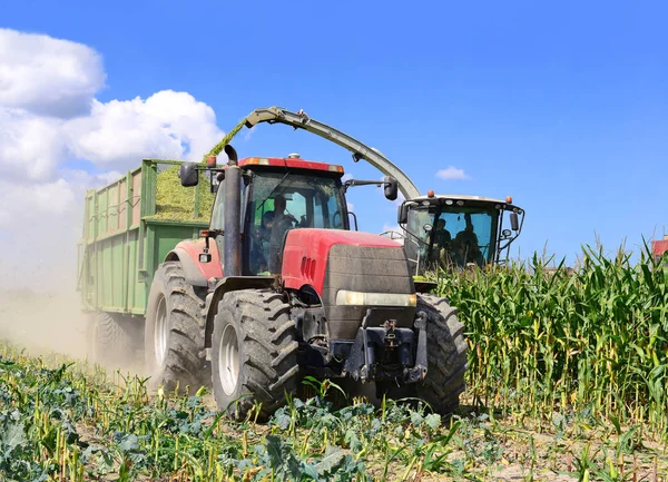
<path fill-rule="evenodd" d="M 638 263 L 587 247 L 579 266 L 529 264 L 449 276 L 439 293 L 459 308 L 477 403 L 550 420 L 588 412 L 668 429 L 667 273 L 646 247 Z"/>

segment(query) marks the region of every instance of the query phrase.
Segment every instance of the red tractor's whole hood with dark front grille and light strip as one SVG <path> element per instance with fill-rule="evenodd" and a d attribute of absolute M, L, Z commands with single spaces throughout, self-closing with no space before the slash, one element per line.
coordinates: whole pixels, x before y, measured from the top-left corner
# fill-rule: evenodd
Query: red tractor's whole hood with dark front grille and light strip
<path fill-rule="evenodd" d="M 383 236 L 337 229 L 293 229 L 283 250 L 285 287 L 313 287 L 331 340 L 354 340 L 370 323 L 410 327 L 415 285 L 403 246 Z"/>

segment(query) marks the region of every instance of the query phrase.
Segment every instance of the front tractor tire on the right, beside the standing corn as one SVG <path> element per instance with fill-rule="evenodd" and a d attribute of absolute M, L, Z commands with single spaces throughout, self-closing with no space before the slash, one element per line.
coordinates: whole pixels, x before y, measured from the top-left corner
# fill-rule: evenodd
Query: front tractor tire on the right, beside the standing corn
<path fill-rule="evenodd" d="M 419 295 L 416 311 L 426 314 L 428 353 L 426 377 L 416 385 L 416 394 L 435 412 L 448 415 L 459 406 L 465 388 L 464 325 L 456 317 L 456 308 L 438 296 Z"/>

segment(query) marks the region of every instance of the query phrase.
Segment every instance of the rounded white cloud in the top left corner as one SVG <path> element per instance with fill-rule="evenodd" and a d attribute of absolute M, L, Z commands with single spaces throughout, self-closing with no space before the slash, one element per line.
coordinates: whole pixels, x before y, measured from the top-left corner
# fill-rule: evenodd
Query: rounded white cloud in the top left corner
<path fill-rule="evenodd" d="M 91 48 L 43 35 L 0 29 L 0 105 L 69 118 L 90 110 L 105 85 Z"/>

